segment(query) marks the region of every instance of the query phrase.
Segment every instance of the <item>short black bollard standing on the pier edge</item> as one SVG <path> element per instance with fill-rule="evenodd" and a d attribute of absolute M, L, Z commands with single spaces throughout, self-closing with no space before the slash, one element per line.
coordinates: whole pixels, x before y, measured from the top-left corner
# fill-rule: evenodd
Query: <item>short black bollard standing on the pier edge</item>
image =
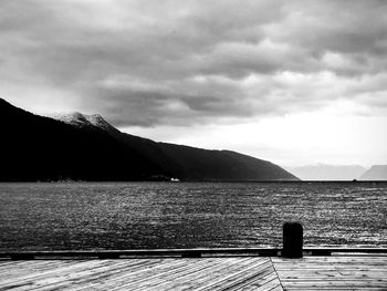
<path fill-rule="evenodd" d="M 303 228 L 299 222 L 285 222 L 283 225 L 282 257 L 302 258 Z"/>

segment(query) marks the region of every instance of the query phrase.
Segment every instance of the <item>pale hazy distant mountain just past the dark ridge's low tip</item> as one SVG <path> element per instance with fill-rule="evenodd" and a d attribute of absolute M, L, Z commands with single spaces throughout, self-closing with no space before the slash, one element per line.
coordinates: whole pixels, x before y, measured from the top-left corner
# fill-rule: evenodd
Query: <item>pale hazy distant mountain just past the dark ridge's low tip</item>
<path fill-rule="evenodd" d="M 303 180 L 353 180 L 366 170 L 358 165 L 339 166 L 316 164 L 301 167 L 285 167 L 286 170 Z"/>

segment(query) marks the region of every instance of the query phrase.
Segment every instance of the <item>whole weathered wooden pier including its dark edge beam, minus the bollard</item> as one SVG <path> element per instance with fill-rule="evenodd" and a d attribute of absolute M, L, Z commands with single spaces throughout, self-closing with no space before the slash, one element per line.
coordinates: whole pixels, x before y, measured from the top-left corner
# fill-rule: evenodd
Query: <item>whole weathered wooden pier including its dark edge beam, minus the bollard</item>
<path fill-rule="evenodd" d="M 387 290 L 386 249 L 0 253 L 0 290 Z"/>

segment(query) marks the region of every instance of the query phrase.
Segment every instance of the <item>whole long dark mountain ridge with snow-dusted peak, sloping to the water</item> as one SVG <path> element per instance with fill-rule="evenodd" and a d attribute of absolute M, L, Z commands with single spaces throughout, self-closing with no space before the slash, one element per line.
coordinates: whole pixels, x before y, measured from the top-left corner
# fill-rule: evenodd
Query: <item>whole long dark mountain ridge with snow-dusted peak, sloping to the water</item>
<path fill-rule="evenodd" d="M 297 180 L 270 162 L 236 152 L 125 134 L 101 115 L 55 118 L 0 98 L 0 180 Z"/>

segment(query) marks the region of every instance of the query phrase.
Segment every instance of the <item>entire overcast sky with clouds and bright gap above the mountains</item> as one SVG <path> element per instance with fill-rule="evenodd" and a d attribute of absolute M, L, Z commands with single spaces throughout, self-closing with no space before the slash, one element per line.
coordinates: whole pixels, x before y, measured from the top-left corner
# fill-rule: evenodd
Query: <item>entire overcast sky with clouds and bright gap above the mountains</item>
<path fill-rule="evenodd" d="M 387 1 L 1 0 L 0 96 L 283 166 L 387 164 Z"/>

